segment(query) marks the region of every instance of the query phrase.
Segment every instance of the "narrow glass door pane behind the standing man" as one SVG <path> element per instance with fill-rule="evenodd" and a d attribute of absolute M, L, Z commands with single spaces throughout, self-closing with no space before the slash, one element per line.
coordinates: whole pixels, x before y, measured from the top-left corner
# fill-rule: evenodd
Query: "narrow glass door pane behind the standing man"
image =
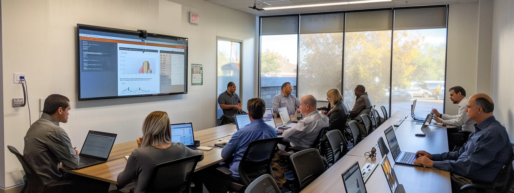
<path fill-rule="evenodd" d="M 241 98 L 241 47 L 242 41 L 227 38 L 217 40 L 217 95 L 227 90 L 229 82 L 237 86 L 235 91 Z M 216 118 L 223 115 L 223 110 L 216 102 Z"/>

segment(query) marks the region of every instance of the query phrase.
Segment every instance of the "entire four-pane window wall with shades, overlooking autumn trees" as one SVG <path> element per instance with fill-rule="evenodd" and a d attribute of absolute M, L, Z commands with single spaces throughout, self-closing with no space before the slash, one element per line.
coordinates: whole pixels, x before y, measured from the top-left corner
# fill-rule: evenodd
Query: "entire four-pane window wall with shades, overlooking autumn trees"
<path fill-rule="evenodd" d="M 326 101 L 335 87 L 352 109 L 362 84 L 380 114 L 410 111 L 414 99 L 418 116 L 444 112 L 446 21 L 446 6 L 264 16 L 260 97 L 270 107 L 298 80 L 298 96 Z"/>

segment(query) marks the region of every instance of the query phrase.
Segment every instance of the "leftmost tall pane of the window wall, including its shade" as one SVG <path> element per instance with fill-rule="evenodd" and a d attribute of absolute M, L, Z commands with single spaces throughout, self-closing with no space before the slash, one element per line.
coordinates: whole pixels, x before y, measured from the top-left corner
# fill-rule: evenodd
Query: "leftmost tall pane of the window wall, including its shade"
<path fill-rule="evenodd" d="M 261 22 L 260 97 L 271 108 L 284 82 L 291 83 L 292 95 L 297 93 L 298 16 L 266 17 Z"/>

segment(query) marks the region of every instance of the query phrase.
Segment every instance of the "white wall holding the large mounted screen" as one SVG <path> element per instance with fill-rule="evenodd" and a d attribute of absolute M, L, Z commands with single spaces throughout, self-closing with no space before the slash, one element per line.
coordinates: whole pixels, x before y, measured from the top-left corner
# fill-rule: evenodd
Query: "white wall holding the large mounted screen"
<path fill-rule="evenodd" d="M 8 48 L 3 50 L 5 144 L 22 151 L 23 137 L 29 128 L 27 107 L 14 109 L 10 105 L 12 98 L 23 95 L 21 85 L 12 83 L 13 73 L 26 73 L 32 121 L 39 117 L 39 98 L 53 93 L 70 98 L 69 122 L 61 127 L 77 149 L 81 148 L 88 130 L 118 133 L 116 143 L 133 141 L 141 136 L 143 118 L 156 110 L 168 112 L 172 122 L 193 122 L 195 130 L 214 127 L 216 36 L 244 41 L 243 85 L 248 89 L 243 89 L 242 99 L 246 106 L 246 100 L 256 96 L 251 87 L 256 82 L 255 16 L 203 0 L 172 1 L 175 3 L 166 0 L 2 1 L 3 47 Z M 188 22 L 192 9 L 201 15 L 199 25 Z M 204 85 L 190 86 L 188 80 L 189 93 L 185 95 L 79 102 L 78 23 L 187 37 L 189 63 L 204 64 Z M 188 68 L 188 74 L 189 71 Z M 22 183 L 22 167 L 11 153 L 5 154 L 5 169 L 5 183 L 0 177 L 0 186 Z"/>

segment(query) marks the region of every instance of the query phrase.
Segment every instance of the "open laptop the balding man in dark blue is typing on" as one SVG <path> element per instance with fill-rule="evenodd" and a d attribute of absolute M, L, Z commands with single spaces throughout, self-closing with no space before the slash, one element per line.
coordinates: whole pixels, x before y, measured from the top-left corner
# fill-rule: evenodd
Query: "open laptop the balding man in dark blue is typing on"
<path fill-rule="evenodd" d="M 414 156 L 415 153 L 400 150 L 400 146 L 398 145 L 398 141 L 396 140 L 396 135 L 394 134 L 393 126 L 389 126 L 386 130 L 384 130 L 384 133 L 386 133 L 389 149 L 391 149 L 391 154 L 393 154 L 395 163 L 423 167 L 412 163 L 417 158 L 416 156 Z"/>

